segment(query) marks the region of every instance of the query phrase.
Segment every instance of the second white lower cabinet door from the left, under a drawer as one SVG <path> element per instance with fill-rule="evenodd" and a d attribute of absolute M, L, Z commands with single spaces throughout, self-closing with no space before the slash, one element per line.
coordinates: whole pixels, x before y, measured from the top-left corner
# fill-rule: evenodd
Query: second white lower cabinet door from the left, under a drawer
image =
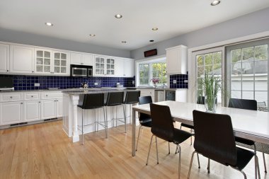
<path fill-rule="evenodd" d="M 39 100 L 25 101 L 23 114 L 25 122 L 40 120 L 41 102 Z"/>

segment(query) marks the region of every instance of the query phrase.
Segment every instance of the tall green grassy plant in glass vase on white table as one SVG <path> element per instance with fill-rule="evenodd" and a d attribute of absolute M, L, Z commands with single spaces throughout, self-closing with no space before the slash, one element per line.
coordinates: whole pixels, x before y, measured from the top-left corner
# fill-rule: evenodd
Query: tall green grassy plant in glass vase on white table
<path fill-rule="evenodd" d="M 217 75 L 205 73 L 202 86 L 205 91 L 205 108 L 207 112 L 215 112 L 217 93 L 222 89 L 221 79 Z"/>

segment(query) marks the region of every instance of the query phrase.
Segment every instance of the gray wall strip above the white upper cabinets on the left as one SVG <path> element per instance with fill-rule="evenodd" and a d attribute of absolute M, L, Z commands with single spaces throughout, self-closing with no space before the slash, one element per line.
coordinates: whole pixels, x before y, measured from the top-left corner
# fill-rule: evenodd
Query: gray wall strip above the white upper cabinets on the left
<path fill-rule="evenodd" d="M 0 41 L 130 58 L 130 50 L 101 47 L 98 45 L 64 40 L 56 37 L 47 37 L 45 35 L 24 33 L 4 28 L 0 28 Z"/>

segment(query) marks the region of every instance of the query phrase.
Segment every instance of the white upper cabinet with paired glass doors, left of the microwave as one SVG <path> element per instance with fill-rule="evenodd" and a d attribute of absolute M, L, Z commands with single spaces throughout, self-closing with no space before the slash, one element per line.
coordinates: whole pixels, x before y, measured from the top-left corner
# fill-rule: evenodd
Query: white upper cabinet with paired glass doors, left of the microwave
<path fill-rule="evenodd" d="M 35 49 L 35 73 L 68 75 L 69 53 Z"/>

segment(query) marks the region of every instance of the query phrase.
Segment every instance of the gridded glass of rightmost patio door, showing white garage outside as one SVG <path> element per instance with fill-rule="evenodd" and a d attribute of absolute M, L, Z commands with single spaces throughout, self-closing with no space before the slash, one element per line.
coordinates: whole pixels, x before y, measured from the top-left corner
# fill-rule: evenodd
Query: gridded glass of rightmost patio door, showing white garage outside
<path fill-rule="evenodd" d="M 268 109 L 269 40 L 227 47 L 228 95 L 257 100 L 258 110 Z"/>

